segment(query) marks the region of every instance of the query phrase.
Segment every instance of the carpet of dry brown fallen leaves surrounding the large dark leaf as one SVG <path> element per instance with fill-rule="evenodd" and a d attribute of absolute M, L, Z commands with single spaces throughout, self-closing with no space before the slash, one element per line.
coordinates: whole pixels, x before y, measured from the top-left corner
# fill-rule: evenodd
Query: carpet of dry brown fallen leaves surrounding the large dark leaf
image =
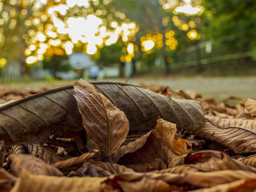
<path fill-rule="evenodd" d="M 33 139 L 20 139 L 20 144 L 10 147 L 19 135 L 9 133 L 10 129 L 0 124 L 0 133 L 8 132 L 7 135 L 10 136 L 2 138 L 0 142 L 0 191 L 255 190 L 255 100 L 230 97 L 217 104 L 214 99 L 205 98 L 198 93 L 173 91 L 161 86 L 140 86 L 161 94 L 159 96 L 162 102 L 167 105 L 171 106 L 172 103 L 162 95 L 174 99 L 170 101 L 175 101 L 178 105 L 173 108 L 174 115 L 170 118 L 178 119 L 177 122 L 187 118 L 190 123 L 181 122 L 181 125 L 176 125 L 163 117 L 154 117 L 154 129 L 139 137 L 131 137 L 129 128 L 134 125 L 129 122 L 128 117 L 131 117 L 132 110 L 130 113 L 122 112 L 114 105 L 116 101 L 99 93 L 99 88 L 80 80 L 75 83 L 73 94 L 86 130 L 86 134 L 81 135 L 86 137 L 86 143 L 83 144 L 83 139 L 74 142 L 72 137 L 57 138 L 58 142 L 54 144 L 46 141 L 36 143 L 39 141 L 37 137 L 53 136 L 44 137 L 44 133 L 40 132 L 43 129 L 30 135 L 23 125 L 23 134 L 26 138 Z M 123 91 L 122 98 L 131 97 L 124 88 L 119 88 Z M 146 92 L 134 88 L 135 94 L 136 90 L 146 97 Z M 119 93 L 113 88 L 108 91 Z M 152 101 L 158 101 L 155 95 L 147 93 Z M 44 97 L 53 101 L 49 96 Z M 58 99 L 61 100 L 61 97 Z M 231 100 L 236 101 L 236 106 L 230 104 Z M 54 100 L 55 103 L 57 101 Z M 134 105 L 140 105 L 135 100 L 132 101 Z M 199 101 L 201 107 L 195 101 Z M 152 104 L 159 110 L 159 103 Z M 0 108 L 6 127 L 11 125 L 11 119 L 17 123 L 16 128 L 12 126 L 14 131 L 19 131 L 18 127 L 23 124 L 22 119 L 18 118 L 20 116 L 12 109 L 17 106 L 33 112 L 26 104 L 4 108 L 10 110 L 10 113 Z M 148 109 L 151 108 L 148 106 Z M 70 113 L 69 109 L 66 110 Z M 198 115 L 201 110 L 204 113 L 202 117 L 205 118 L 202 125 L 202 118 Z M 159 113 L 165 115 L 163 111 Z M 144 117 L 152 114 L 147 109 L 140 112 Z M 43 113 L 45 115 L 47 112 Z M 41 118 L 43 114 L 34 112 L 33 115 Z M 197 117 L 198 122 L 195 122 Z M 45 118 L 45 124 L 48 123 Z M 194 129 L 189 129 L 190 126 Z"/>

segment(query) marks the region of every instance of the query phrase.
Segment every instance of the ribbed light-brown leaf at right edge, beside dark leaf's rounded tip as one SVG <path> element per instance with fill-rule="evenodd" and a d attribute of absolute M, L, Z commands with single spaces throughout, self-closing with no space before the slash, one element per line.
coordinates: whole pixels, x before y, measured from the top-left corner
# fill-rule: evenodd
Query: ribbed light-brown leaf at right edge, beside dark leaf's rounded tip
<path fill-rule="evenodd" d="M 217 118 L 206 115 L 206 123 L 195 134 L 233 150 L 256 152 L 256 120 Z"/>

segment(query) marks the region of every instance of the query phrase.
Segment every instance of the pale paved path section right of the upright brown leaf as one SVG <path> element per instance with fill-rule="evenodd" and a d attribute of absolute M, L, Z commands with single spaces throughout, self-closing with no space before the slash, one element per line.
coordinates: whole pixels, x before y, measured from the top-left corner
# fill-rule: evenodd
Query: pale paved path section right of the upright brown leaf
<path fill-rule="evenodd" d="M 119 80 L 120 81 L 120 80 Z M 256 99 L 256 77 L 194 77 L 194 78 L 135 78 L 121 80 L 131 84 L 168 85 L 174 90 L 197 91 L 203 96 L 211 96 L 218 101 L 228 96 Z"/>

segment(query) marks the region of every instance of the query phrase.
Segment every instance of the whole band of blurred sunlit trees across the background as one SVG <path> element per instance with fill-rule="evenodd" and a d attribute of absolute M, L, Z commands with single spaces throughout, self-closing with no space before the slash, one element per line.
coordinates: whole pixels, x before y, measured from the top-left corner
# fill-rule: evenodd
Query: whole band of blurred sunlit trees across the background
<path fill-rule="evenodd" d="M 254 0 L 0 1 L 0 68 L 23 75 L 25 64 L 48 63 L 54 47 L 63 51 L 51 58 L 84 53 L 99 66 L 117 64 L 120 74 L 131 64 L 131 75 L 251 59 L 255 6 Z M 56 62 L 47 69 L 52 65 L 67 71 Z"/>

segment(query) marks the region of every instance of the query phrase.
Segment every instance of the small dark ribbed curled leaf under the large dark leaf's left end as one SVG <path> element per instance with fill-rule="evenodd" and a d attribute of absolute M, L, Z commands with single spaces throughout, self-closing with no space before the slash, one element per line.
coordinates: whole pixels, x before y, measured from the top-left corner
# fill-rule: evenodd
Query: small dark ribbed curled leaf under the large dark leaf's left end
<path fill-rule="evenodd" d="M 51 152 L 39 145 L 14 145 L 12 146 L 12 153 L 16 155 L 29 153 L 30 155 L 42 159 L 46 164 L 54 164 L 58 161 L 64 160 L 64 157 Z M 67 158 L 67 157 L 65 157 Z"/>

